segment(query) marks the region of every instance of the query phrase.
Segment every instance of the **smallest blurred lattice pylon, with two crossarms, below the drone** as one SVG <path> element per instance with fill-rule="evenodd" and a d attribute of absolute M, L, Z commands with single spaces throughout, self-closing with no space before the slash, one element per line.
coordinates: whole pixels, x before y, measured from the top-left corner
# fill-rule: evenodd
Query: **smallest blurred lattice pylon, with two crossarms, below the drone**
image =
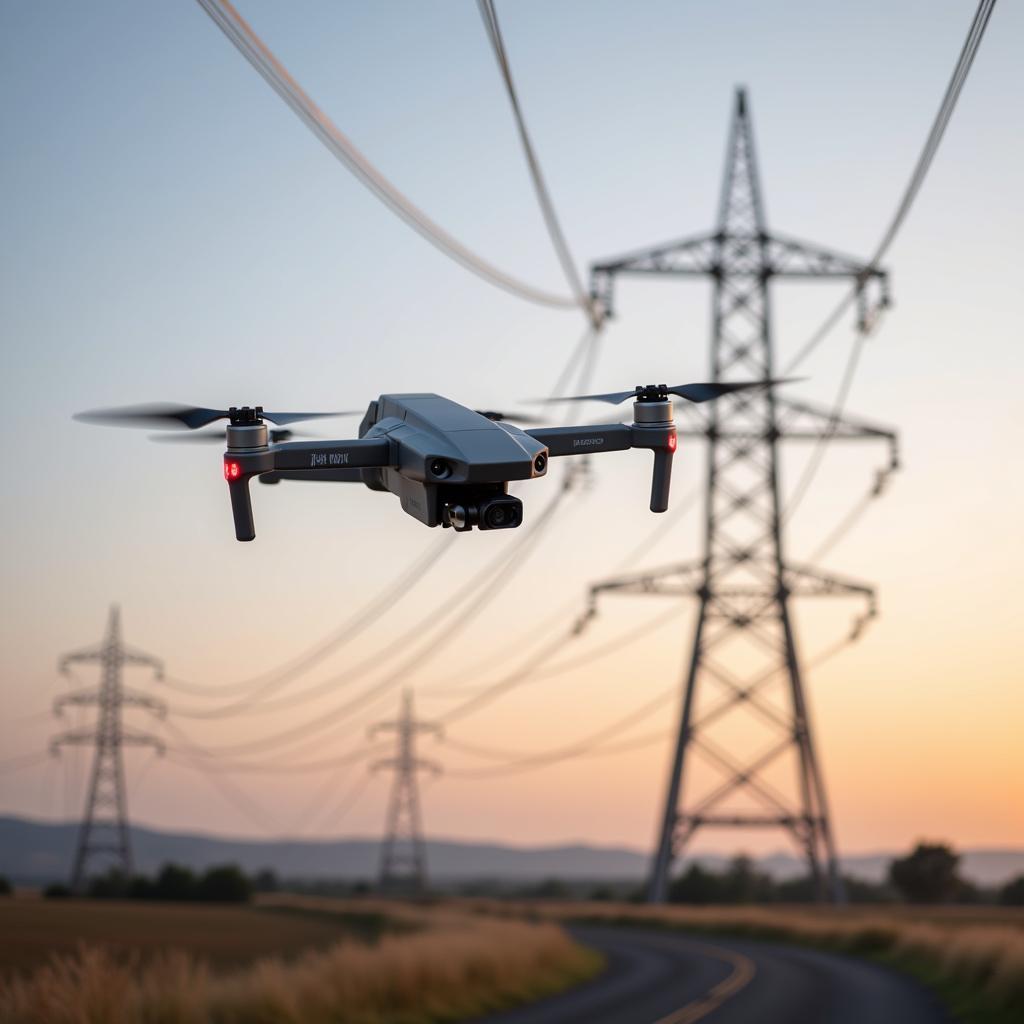
<path fill-rule="evenodd" d="M 384 842 L 381 846 L 380 887 L 386 892 L 419 894 L 427 888 L 427 858 L 423 848 L 423 819 L 420 794 L 416 782 L 418 771 L 440 774 L 440 765 L 416 756 L 416 736 L 421 732 L 440 734 L 441 728 L 431 722 L 418 722 L 413 714 L 413 693 L 406 690 L 401 712 L 393 722 L 381 722 L 370 730 L 395 733 L 395 756 L 377 761 L 372 770 L 388 768 L 394 771 L 394 783 L 388 804 Z"/>

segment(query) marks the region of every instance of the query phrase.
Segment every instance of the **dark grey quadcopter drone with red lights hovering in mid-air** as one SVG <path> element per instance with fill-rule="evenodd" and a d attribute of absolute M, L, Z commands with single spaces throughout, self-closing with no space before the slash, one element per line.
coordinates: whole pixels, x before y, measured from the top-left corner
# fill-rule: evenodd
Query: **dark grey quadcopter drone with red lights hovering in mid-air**
<path fill-rule="evenodd" d="M 223 433 L 180 439 L 224 441 L 223 473 L 231 500 L 234 536 L 256 537 L 249 481 L 325 480 L 364 483 L 371 490 L 397 496 L 402 510 L 427 526 L 459 532 L 514 529 L 522 524 L 522 502 L 508 493 L 513 480 L 546 475 L 551 459 L 647 449 L 654 455 L 650 510 L 669 508 L 672 458 L 676 452 L 673 396 L 710 401 L 781 381 L 711 384 L 648 384 L 631 391 L 570 395 L 547 402 L 600 401 L 618 404 L 633 398 L 632 423 L 584 424 L 523 429 L 501 413 L 477 412 L 439 394 L 382 394 L 371 401 L 357 438 L 289 440 L 288 425 L 337 413 L 267 413 L 261 406 L 227 410 L 158 403 L 94 410 L 75 417 L 105 426 L 200 430 L 227 420 Z M 529 417 L 514 416 L 520 423 Z M 540 422 L 540 421 L 538 421 Z M 271 430 L 267 423 L 284 429 Z M 158 435 L 157 439 L 171 439 Z M 178 438 L 174 438 L 178 439 Z"/>

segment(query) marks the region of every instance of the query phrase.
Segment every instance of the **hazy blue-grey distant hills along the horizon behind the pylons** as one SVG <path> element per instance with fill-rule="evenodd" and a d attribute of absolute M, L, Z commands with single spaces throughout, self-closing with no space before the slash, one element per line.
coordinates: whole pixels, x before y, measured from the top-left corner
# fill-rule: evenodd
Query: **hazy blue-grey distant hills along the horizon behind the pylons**
<path fill-rule="evenodd" d="M 62 880 L 71 864 L 78 826 L 74 823 L 0 817 L 0 874 L 31 885 Z M 370 880 L 377 873 L 377 840 L 247 840 L 189 833 L 132 828 L 132 851 L 139 871 L 152 873 L 167 861 L 206 868 L 236 863 L 247 871 L 272 867 L 286 879 Z M 885 877 L 892 853 L 846 857 L 847 873 L 868 881 Z M 562 879 L 566 882 L 639 881 L 647 870 L 647 854 L 628 847 L 567 844 L 514 847 L 497 843 L 430 840 L 427 858 L 439 882 L 487 880 L 509 883 Z M 719 869 L 726 856 L 701 856 Z M 804 872 L 803 861 L 788 853 L 762 857 L 762 870 L 777 879 Z M 997 885 L 1024 873 L 1024 849 L 968 850 L 964 873 L 981 885 Z"/>

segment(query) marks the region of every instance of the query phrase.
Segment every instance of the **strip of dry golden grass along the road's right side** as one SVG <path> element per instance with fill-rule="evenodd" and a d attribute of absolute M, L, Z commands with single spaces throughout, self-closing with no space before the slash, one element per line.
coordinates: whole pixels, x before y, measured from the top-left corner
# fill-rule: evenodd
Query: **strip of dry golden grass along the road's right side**
<path fill-rule="evenodd" d="M 997 907 L 668 906 L 478 901 L 480 912 L 715 931 L 881 955 L 979 992 L 1024 1020 L 1024 910 Z"/>

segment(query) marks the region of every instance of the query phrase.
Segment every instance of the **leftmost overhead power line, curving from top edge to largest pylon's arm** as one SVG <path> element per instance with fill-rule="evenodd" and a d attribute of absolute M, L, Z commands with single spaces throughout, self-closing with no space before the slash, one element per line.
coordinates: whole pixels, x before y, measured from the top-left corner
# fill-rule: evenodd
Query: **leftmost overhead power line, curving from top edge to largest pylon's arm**
<path fill-rule="evenodd" d="M 392 213 L 426 239 L 432 246 L 467 270 L 513 295 L 544 306 L 573 308 L 575 298 L 554 295 L 506 273 L 472 252 L 431 220 L 395 187 L 355 146 L 333 121 L 312 101 L 281 61 L 253 32 L 228 0 L 198 0 L 214 24 L 236 49 L 256 69 L 267 84 L 301 118 L 312 133 Z"/>

